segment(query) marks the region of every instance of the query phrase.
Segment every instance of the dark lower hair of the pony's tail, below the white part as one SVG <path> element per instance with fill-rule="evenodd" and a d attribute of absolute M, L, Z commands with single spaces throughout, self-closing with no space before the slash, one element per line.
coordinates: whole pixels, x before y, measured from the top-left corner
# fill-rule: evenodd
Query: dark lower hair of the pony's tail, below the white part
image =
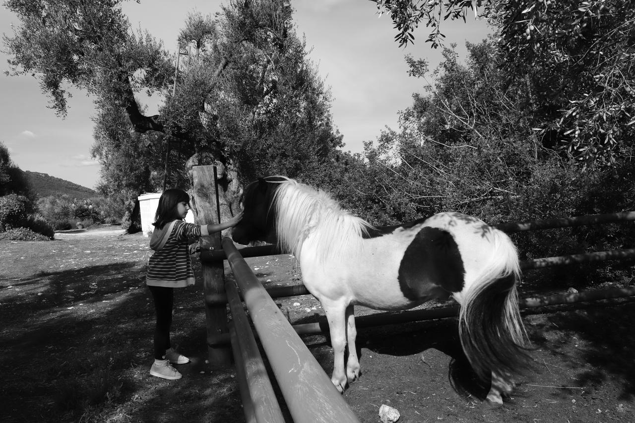
<path fill-rule="evenodd" d="M 478 376 L 487 380 L 490 371 L 522 374 L 530 370 L 528 349 L 516 344 L 505 326 L 505 304 L 516 284 L 516 276 L 510 274 L 486 286 L 473 300 L 471 312 L 465 321 L 459 322 L 458 332 L 468 357 Z"/>

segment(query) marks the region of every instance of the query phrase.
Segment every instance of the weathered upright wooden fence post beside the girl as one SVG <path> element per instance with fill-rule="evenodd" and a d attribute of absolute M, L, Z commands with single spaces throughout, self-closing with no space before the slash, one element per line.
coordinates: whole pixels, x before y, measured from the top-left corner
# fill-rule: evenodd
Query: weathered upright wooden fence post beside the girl
<path fill-rule="evenodd" d="M 214 181 L 214 166 L 192 168 L 194 192 L 192 206 L 196 209 L 196 223 L 217 224 L 217 186 Z M 201 238 L 201 250 L 220 250 L 220 232 Z M 213 368 L 231 365 L 231 350 L 227 347 L 210 346 L 210 340 L 221 333 L 229 333 L 227 305 L 225 299 L 225 269 L 223 260 L 206 261 L 203 265 L 203 290 L 205 316 L 207 319 L 208 356 Z"/>

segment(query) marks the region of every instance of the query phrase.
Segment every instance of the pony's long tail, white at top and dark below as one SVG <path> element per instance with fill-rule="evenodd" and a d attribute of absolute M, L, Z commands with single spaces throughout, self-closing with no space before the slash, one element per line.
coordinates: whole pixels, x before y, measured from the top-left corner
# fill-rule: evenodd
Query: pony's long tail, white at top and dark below
<path fill-rule="evenodd" d="M 504 232 L 494 229 L 492 235 L 491 262 L 462 292 L 458 316 L 463 350 L 481 380 L 488 380 L 492 371 L 511 376 L 531 367 L 518 309 L 518 252 Z"/>

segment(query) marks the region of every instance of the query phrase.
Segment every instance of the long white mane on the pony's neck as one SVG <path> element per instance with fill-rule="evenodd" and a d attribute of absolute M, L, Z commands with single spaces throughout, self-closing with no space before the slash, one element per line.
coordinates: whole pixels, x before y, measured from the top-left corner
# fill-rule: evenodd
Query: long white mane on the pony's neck
<path fill-rule="evenodd" d="M 272 205 L 276 210 L 276 232 L 282 248 L 300 258 L 302 244 L 309 234 L 320 261 L 358 253 L 364 234 L 371 225 L 348 213 L 330 194 L 281 177 Z"/>

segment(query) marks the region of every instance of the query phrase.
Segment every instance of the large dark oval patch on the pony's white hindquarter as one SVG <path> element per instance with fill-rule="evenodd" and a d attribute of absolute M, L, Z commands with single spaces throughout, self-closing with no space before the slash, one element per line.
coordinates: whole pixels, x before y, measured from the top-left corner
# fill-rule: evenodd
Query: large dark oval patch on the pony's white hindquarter
<path fill-rule="evenodd" d="M 406 248 L 398 279 L 404 297 L 416 301 L 429 295 L 429 285 L 443 288 L 444 297 L 450 292 L 460 292 L 464 275 L 463 260 L 450 232 L 426 226 Z"/>

